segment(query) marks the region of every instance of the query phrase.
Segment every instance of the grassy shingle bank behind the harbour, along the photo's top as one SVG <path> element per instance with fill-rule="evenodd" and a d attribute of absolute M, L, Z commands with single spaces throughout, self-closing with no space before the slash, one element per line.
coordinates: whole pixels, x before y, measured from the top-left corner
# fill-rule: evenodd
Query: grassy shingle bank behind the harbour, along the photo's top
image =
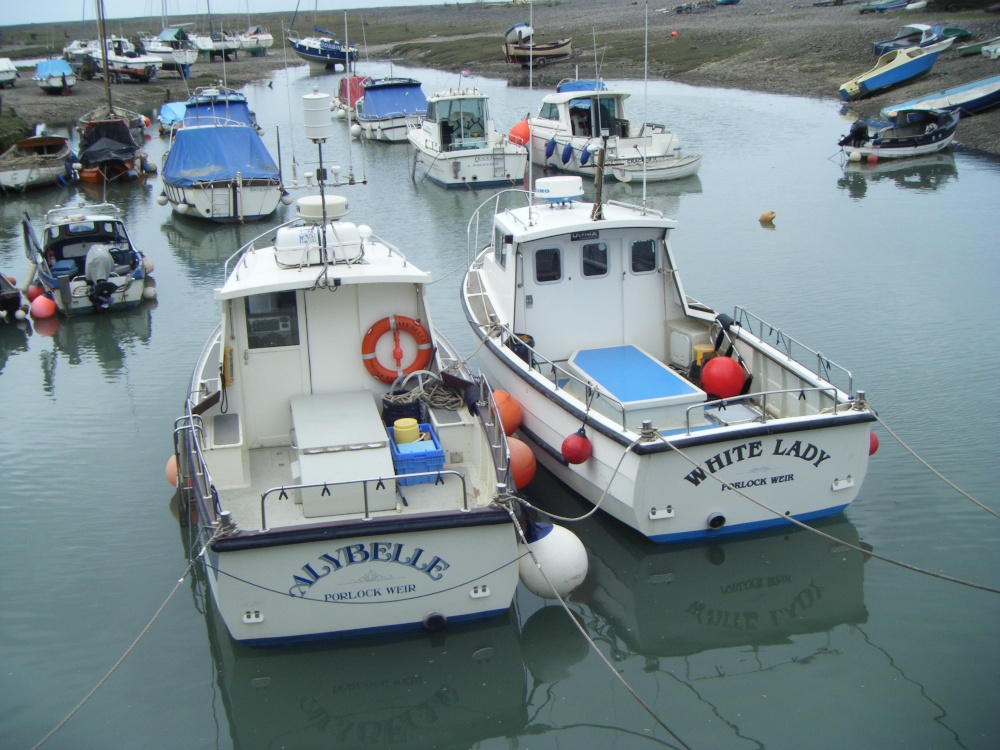
<path fill-rule="evenodd" d="M 648 6 L 648 13 L 647 6 L 635 0 L 536 4 L 531 11 L 536 39 L 572 36 L 576 54 L 570 60 L 537 68 L 534 85 L 552 86 L 577 68 L 581 76 L 593 75 L 595 41 L 604 78 L 641 77 L 647 15 L 650 79 L 833 100 L 839 100 L 840 84 L 874 65 L 872 42 L 894 36 L 904 24 L 958 26 L 973 32 L 976 39 L 1000 35 L 1000 15 L 973 10 L 948 12 L 942 0 L 932 0 L 924 10 L 882 14 L 859 13 L 859 3 L 813 5 L 793 0 L 742 0 L 737 5 L 696 6 L 692 12 L 678 13 L 675 4 L 660 6 L 658 1 Z M 342 28 L 342 15 L 335 18 L 329 15 L 318 21 L 330 24 L 328 28 Z M 349 28 L 354 24 L 360 31 L 363 22 L 363 33 L 353 38 L 366 40 L 366 52 L 372 59 L 455 71 L 470 69 L 477 75 L 506 78 L 511 85 L 526 84 L 527 74 L 520 66 L 503 62 L 503 32 L 528 19 L 527 5 L 511 3 L 348 11 Z M 230 86 L 265 78 L 283 68 L 286 59 L 289 65 L 302 64 L 290 49 L 282 51 L 280 29 L 283 21 L 287 23 L 284 14 L 262 14 L 258 20 L 272 31 L 279 30 L 275 46 L 266 57 L 244 54 L 226 63 Z M 310 19 L 297 26 L 307 29 L 312 23 Z M 11 38 L 8 32 L 17 28 L 3 28 L 3 38 Z M 40 25 L 31 28 L 37 30 Z M 0 46 L 0 56 L 17 57 L 18 51 L 15 46 Z M 876 117 L 892 102 L 994 75 L 1000 75 L 1000 62 L 981 55 L 961 57 L 948 50 L 925 76 L 851 103 L 850 108 L 860 116 Z M 222 78 L 221 62 L 199 62 L 188 85 L 212 85 Z M 163 73 L 151 83 L 114 85 L 112 92 L 121 106 L 150 111 L 164 101 L 182 99 L 185 87 L 178 75 Z M 80 81 L 68 96 L 47 96 L 33 85 L 30 73 L 22 73 L 17 86 L 4 90 L 2 97 L 4 111 L 9 115 L 13 109 L 29 124 L 70 122 L 103 102 L 104 86 L 101 81 Z M 955 142 L 1000 155 L 1000 108 L 963 120 Z"/>

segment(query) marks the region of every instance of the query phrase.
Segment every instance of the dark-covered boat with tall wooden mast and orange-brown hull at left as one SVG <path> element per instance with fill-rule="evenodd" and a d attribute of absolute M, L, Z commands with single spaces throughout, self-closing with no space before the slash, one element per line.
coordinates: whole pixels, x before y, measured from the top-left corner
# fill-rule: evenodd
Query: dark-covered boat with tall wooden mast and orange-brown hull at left
<path fill-rule="evenodd" d="M 98 35 L 104 39 L 103 0 L 97 0 L 97 28 Z M 108 69 L 107 54 L 107 46 L 102 44 L 102 70 Z M 149 118 L 115 107 L 111 101 L 111 84 L 106 75 L 104 96 L 105 104 L 85 114 L 77 123 L 80 131 L 80 179 L 84 182 L 135 180 L 147 168 L 155 170 L 155 166 L 145 164 L 146 155 L 136 141 L 137 134 L 142 137 Z"/>

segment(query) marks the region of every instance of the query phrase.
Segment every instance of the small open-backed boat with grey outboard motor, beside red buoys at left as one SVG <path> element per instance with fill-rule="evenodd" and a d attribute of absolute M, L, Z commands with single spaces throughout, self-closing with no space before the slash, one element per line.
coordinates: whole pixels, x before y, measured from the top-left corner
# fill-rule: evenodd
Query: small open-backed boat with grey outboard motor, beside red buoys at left
<path fill-rule="evenodd" d="M 153 262 L 132 243 L 122 211 L 111 203 L 57 206 L 35 233 L 22 219 L 29 275 L 63 315 L 135 307 L 155 296 Z"/>

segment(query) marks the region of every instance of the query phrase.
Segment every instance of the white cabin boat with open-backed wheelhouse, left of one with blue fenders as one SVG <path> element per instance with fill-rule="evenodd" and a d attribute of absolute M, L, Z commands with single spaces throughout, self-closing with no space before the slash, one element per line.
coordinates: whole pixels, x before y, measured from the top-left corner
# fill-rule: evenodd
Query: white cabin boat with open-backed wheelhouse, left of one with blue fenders
<path fill-rule="evenodd" d="M 475 88 L 442 91 L 427 99 L 413 146 L 413 177 L 445 187 L 513 185 L 524 179 L 528 151 L 496 129 L 487 96 Z"/>

